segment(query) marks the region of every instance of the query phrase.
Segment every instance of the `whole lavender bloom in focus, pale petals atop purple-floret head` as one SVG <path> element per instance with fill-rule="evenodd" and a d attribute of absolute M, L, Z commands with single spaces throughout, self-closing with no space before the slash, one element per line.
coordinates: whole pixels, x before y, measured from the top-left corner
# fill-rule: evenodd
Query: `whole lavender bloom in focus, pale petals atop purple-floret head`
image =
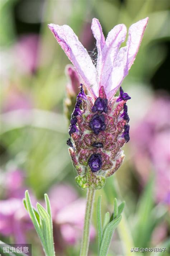
<path fill-rule="evenodd" d="M 78 173 L 75 180 L 82 189 L 101 189 L 123 162 L 121 148 L 129 141 L 126 102 L 131 97 L 120 86 L 134 62 L 147 22 L 145 18 L 132 24 L 127 44 L 120 48 L 126 39 L 126 26 L 115 26 L 105 40 L 94 18 L 91 29 L 98 49 L 96 67 L 69 26 L 48 25 L 89 92 L 86 95 L 81 84 L 69 127 L 73 143 L 67 141 Z M 119 88 L 120 94 L 115 97 Z"/>

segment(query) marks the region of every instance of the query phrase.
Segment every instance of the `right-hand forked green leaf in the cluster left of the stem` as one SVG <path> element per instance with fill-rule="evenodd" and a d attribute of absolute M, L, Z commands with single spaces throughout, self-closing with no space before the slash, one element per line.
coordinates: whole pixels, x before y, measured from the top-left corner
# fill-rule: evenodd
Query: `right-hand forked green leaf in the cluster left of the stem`
<path fill-rule="evenodd" d="M 49 204 L 49 199 L 47 199 L 47 204 L 48 204 L 48 210 L 50 210 L 50 204 Z M 50 256 L 55 255 L 54 251 L 54 241 L 53 241 L 53 232 L 52 232 L 52 221 L 51 221 L 51 211 L 48 212 L 42 207 L 39 203 L 37 203 L 37 209 L 39 212 L 39 215 L 42 218 L 42 223 L 43 223 L 43 230 L 45 233 L 45 241 L 48 244 L 48 252 Z"/>

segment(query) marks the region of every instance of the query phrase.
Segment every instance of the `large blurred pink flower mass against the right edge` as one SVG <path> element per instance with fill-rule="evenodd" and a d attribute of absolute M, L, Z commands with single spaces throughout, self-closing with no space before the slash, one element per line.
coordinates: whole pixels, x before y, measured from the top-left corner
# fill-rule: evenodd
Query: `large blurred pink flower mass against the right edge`
<path fill-rule="evenodd" d="M 136 169 L 146 183 L 155 170 L 157 202 L 170 204 L 170 100 L 155 98 L 148 113 L 131 130 Z"/>

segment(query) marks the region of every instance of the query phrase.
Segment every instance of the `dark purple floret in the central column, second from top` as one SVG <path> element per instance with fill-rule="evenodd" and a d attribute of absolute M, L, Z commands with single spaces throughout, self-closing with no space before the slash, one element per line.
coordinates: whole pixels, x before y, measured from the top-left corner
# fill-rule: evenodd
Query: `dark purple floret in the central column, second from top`
<path fill-rule="evenodd" d="M 105 118 L 104 115 L 95 114 L 95 116 L 90 121 L 90 128 L 94 131 L 95 134 L 99 134 L 100 131 L 105 131 L 106 125 L 104 123 Z"/>

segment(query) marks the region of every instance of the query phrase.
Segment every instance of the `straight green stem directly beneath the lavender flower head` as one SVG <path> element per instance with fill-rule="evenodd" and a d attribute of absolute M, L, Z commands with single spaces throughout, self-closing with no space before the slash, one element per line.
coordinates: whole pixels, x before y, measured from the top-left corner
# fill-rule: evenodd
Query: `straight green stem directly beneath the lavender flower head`
<path fill-rule="evenodd" d="M 80 256 L 87 256 L 89 250 L 89 231 L 90 231 L 90 220 L 93 210 L 93 199 L 94 199 L 94 189 L 88 189 L 87 201 L 86 201 L 86 212 L 84 219 L 84 230 L 81 243 Z"/>

